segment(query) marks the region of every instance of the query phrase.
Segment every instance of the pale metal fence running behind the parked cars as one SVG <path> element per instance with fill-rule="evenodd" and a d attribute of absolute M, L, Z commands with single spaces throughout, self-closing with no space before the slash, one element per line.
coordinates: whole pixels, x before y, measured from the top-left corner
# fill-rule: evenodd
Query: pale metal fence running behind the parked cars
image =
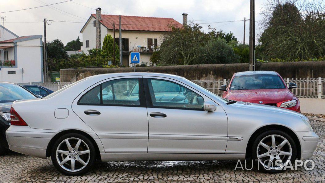
<path fill-rule="evenodd" d="M 297 84 L 297 88 L 291 89 L 292 93 L 298 98 L 323 98 L 325 99 L 325 78 L 285 78 L 287 83 Z M 218 90 L 220 85 L 229 85 L 230 79 L 219 80 L 192 80 L 192 82 L 212 91 L 213 93 L 222 96 L 223 91 Z M 50 90 L 57 91 L 64 85 L 71 83 L 18 83 L 19 85 L 40 85 Z M 114 84 L 120 95 L 126 90 L 131 90 L 136 83 L 129 82 L 124 84 L 122 82 Z M 116 85 L 116 86 L 115 86 Z"/>

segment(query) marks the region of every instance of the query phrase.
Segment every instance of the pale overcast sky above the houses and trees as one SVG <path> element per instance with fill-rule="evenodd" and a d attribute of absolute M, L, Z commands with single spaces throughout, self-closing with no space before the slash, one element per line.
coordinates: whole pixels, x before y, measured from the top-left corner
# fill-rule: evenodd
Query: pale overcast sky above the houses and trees
<path fill-rule="evenodd" d="M 63 1 L 66 0 L 2 1 L 0 12 L 38 7 Z M 201 24 L 202 30 L 208 30 L 207 25 L 211 25 L 217 30 L 233 32 L 238 40 L 242 41 L 243 21 L 227 23 L 210 22 L 243 20 L 244 17 L 249 19 L 249 2 L 249 0 L 73 0 L 72 2 L 52 5 L 51 7 L 0 13 L 0 16 L 6 16 L 5 27 L 7 29 L 19 36 L 23 36 L 43 35 L 43 22 L 37 21 L 43 21 L 44 18 L 47 20 L 85 22 L 91 13 L 95 13 L 95 8 L 97 7 L 102 8 L 102 14 L 173 18 L 181 23 L 182 13 L 188 13 L 188 21 L 194 20 L 195 23 L 204 23 Z M 264 3 L 266 3 L 266 0 L 255 1 L 256 21 L 261 19 L 259 13 Z M 3 25 L 2 21 L 1 25 Z M 66 44 L 71 40 L 75 40 L 77 36 L 82 40 L 82 34 L 79 32 L 83 25 L 83 23 L 53 21 L 50 25 L 46 25 L 47 41 L 58 38 Z M 258 33 L 259 26 L 257 23 L 255 24 L 255 29 L 256 33 Z M 246 43 L 248 43 L 248 37 L 249 21 L 246 22 Z"/>

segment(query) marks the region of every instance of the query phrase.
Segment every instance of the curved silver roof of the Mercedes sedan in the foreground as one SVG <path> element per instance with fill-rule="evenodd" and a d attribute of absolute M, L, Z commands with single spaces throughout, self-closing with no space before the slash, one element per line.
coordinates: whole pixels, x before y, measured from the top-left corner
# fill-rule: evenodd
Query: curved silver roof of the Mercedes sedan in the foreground
<path fill-rule="evenodd" d="M 184 78 L 182 76 L 177 76 L 174 74 L 164 74 L 164 73 L 156 73 L 156 72 L 119 72 L 119 73 L 93 75 L 93 76 L 86 77 L 85 79 L 92 79 L 92 78 L 107 79 L 107 78 L 120 77 L 120 76 L 156 76 L 156 77 L 167 77 L 172 79 Z"/>

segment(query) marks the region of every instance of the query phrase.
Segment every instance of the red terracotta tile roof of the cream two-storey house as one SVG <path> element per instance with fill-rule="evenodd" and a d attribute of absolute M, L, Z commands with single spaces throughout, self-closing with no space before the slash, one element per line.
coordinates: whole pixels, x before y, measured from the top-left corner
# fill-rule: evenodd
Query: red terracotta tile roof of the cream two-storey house
<path fill-rule="evenodd" d="M 96 19 L 96 14 L 91 14 Z M 113 29 L 113 22 L 115 22 L 115 30 L 119 27 L 119 15 L 101 15 L 101 21 L 108 29 Z M 171 18 L 157 18 L 157 17 L 137 17 L 137 16 L 121 16 L 122 30 L 130 31 L 171 31 L 170 25 L 175 27 L 182 27 L 182 24 Z"/>

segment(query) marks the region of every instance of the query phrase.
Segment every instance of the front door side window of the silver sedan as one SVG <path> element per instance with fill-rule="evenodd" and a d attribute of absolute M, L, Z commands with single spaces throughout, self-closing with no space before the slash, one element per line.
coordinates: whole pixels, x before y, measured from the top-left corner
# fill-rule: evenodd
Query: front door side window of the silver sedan
<path fill-rule="evenodd" d="M 161 79 L 147 81 L 153 107 L 203 110 L 203 97 L 183 85 Z"/>

